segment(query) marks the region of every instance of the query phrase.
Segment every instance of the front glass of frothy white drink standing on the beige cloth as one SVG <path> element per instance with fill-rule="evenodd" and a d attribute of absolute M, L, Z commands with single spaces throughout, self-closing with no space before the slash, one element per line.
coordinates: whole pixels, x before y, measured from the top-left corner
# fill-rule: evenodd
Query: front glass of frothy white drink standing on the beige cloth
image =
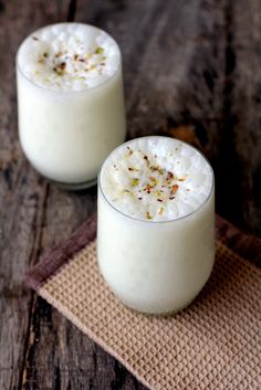
<path fill-rule="evenodd" d="M 205 157 L 167 137 L 116 148 L 100 176 L 97 255 L 112 291 L 134 309 L 187 306 L 215 259 L 213 173 Z"/>

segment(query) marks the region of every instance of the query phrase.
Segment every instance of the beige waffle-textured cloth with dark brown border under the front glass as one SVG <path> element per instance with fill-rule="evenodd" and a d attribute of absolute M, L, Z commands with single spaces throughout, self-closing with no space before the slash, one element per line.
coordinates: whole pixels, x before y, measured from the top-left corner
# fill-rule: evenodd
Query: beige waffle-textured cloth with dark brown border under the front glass
<path fill-rule="evenodd" d="M 217 259 L 197 299 L 168 317 L 134 313 L 98 273 L 96 218 L 25 276 L 38 294 L 152 390 L 261 389 L 261 241 L 218 218 Z M 230 249 L 228 247 L 230 246 Z"/>

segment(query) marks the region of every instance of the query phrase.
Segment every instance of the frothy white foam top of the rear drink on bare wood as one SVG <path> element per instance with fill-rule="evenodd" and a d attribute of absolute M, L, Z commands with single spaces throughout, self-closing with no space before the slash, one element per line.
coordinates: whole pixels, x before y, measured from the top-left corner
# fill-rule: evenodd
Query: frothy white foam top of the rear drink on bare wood
<path fill-rule="evenodd" d="M 22 73 L 50 89 L 83 91 L 116 72 L 121 54 L 104 31 L 81 23 L 48 25 L 29 35 L 18 54 Z"/>

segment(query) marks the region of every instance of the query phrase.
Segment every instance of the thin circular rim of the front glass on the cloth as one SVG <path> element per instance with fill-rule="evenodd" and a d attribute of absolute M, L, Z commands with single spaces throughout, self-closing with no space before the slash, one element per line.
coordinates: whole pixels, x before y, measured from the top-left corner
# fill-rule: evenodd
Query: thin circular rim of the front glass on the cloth
<path fill-rule="evenodd" d="M 112 202 L 107 199 L 107 197 L 105 196 L 104 191 L 103 191 L 103 188 L 102 188 L 102 171 L 104 169 L 104 166 L 106 164 L 106 161 L 111 158 L 111 156 L 114 154 L 114 151 L 118 150 L 119 148 L 122 148 L 123 146 L 127 146 L 128 144 L 130 144 L 133 140 L 135 139 L 144 139 L 144 138 L 164 138 L 164 139 L 171 139 L 171 140 L 177 140 L 181 144 L 185 144 L 187 145 L 188 147 L 192 148 L 197 154 L 199 154 L 203 160 L 207 162 L 209 169 L 210 169 L 210 172 L 211 172 L 211 188 L 210 188 L 210 191 L 207 196 L 207 198 L 203 200 L 202 203 L 199 204 L 199 207 L 192 211 L 190 211 L 189 213 L 185 214 L 185 215 L 181 215 L 179 218 L 175 218 L 175 219 L 170 219 L 170 220 L 161 220 L 161 221 L 152 221 L 152 220 L 142 220 L 139 218 L 136 218 L 136 217 L 132 217 L 125 212 L 123 212 L 122 210 L 117 209 L 114 204 L 112 204 Z M 116 213 L 119 213 L 122 214 L 123 217 L 126 217 L 127 219 L 132 220 L 132 221 L 135 221 L 135 222 L 143 222 L 143 223 L 149 223 L 149 224 L 157 224 L 157 223 L 160 223 L 160 224 L 164 224 L 164 223 L 175 223 L 175 222 L 178 222 L 178 221 L 181 221 L 181 220 L 185 220 L 187 218 L 190 218 L 192 217 L 194 214 L 196 214 L 197 212 L 199 212 L 207 203 L 208 201 L 211 199 L 212 197 L 212 193 L 213 193 L 213 190 L 215 190 L 215 175 L 213 175 L 213 169 L 208 160 L 208 158 L 200 151 L 198 150 L 196 147 L 189 145 L 188 143 L 185 143 L 180 139 L 177 139 L 177 138 L 173 138 L 173 137 L 166 137 L 166 136 L 144 136 L 144 137 L 136 137 L 136 138 L 133 138 L 133 139 L 129 139 L 127 140 L 126 143 L 117 146 L 115 149 L 113 149 L 111 151 L 111 154 L 106 157 L 106 159 L 104 160 L 101 169 L 100 169 L 100 172 L 98 172 L 98 178 L 97 178 L 97 186 L 98 186 L 98 190 L 103 197 L 103 199 L 105 200 L 105 202 L 109 205 L 109 208 L 114 209 L 114 211 L 116 211 Z"/>

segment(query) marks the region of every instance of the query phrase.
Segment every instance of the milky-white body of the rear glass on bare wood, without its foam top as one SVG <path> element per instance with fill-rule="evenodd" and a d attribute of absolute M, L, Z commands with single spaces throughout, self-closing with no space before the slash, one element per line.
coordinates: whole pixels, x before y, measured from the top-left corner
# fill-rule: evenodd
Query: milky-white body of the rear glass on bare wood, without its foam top
<path fill-rule="evenodd" d="M 49 28 L 55 25 L 43 29 Z M 106 34 L 94 27 L 87 28 L 91 32 Z M 81 91 L 59 91 L 38 85 L 21 68 L 21 49 L 28 39 L 17 55 L 19 138 L 22 149 L 32 166 L 51 181 L 66 189 L 90 187 L 96 183 L 106 156 L 124 141 L 126 135 L 118 45 L 109 38 L 118 50 L 119 59 L 109 78 Z"/>

